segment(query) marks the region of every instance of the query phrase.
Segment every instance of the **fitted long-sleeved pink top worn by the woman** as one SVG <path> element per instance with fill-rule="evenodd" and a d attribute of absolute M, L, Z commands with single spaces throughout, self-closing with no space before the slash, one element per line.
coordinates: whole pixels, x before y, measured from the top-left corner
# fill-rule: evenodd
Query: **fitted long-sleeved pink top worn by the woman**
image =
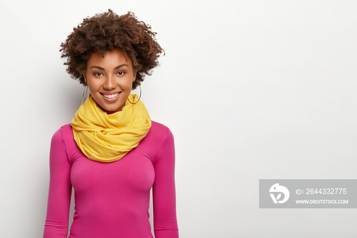
<path fill-rule="evenodd" d="M 171 131 L 152 122 L 139 146 L 111 163 L 88 159 L 73 139 L 70 124 L 53 136 L 43 237 L 67 237 L 71 189 L 75 212 L 71 238 L 152 237 L 152 187 L 156 238 L 176 238 L 174 142 Z"/>

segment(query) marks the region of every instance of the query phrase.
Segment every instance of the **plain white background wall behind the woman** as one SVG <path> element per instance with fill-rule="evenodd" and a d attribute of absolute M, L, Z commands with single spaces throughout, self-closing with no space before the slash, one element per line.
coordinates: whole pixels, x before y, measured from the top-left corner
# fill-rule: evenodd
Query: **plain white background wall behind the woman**
<path fill-rule="evenodd" d="M 234 3 L 235 2 L 235 3 Z M 41 237 L 53 133 L 83 87 L 60 43 L 133 11 L 166 55 L 143 83 L 176 145 L 181 237 L 355 237 L 355 209 L 259 209 L 259 179 L 356 179 L 355 1 L 0 1 L 2 237 Z"/>

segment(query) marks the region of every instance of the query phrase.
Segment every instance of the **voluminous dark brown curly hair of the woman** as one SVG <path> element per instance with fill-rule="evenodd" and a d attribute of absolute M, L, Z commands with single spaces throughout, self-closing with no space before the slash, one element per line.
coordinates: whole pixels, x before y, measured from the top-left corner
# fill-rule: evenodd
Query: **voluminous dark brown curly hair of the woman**
<path fill-rule="evenodd" d="M 108 9 L 108 12 L 84 18 L 77 28 L 73 28 L 66 41 L 61 43 L 61 58 L 66 59 L 64 65 L 67 65 L 71 78 L 85 85 L 83 74 L 92 53 L 97 51 L 104 58 L 106 50 L 118 48 L 125 59 L 132 60 L 137 72 L 136 81 L 140 83 L 144 74 L 151 75 L 152 68 L 159 65 L 158 58 L 164 52 L 156 41 L 156 34 L 134 13 L 118 16 Z M 133 82 L 133 89 L 137 85 Z"/>

